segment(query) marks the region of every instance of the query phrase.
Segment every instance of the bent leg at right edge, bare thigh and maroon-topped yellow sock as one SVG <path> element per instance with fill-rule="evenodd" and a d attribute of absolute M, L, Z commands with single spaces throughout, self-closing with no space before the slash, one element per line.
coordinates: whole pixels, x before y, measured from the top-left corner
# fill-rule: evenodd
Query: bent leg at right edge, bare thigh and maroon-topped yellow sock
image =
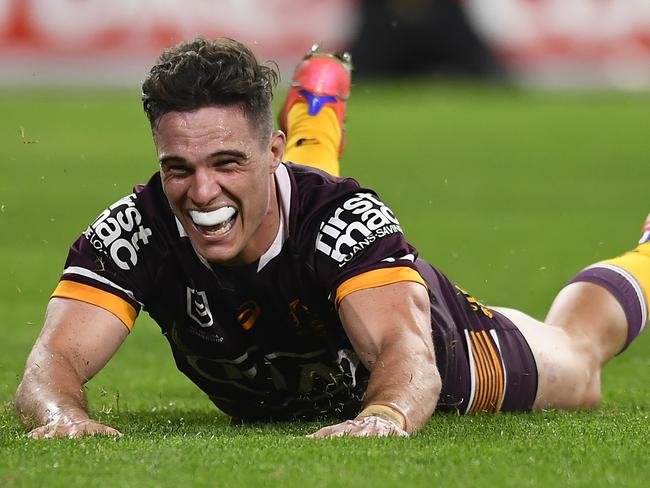
<path fill-rule="evenodd" d="M 640 245 L 581 271 L 541 323 L 504 313 L 524 335 L 538 369 L 534 409 L 588 408 L 600 399 L 601 368 L 643 330 L 650 297 L 650 216 Z"/>

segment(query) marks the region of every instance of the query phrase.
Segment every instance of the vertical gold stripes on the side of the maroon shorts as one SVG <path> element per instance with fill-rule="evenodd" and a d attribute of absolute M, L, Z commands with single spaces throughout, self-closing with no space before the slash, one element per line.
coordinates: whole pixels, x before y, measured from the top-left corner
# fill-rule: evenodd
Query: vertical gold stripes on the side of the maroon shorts
<path fill-rule="evenodd" d="M 470 354 L 474 360 L 474 398 L 467 413 L 494 413 L 501 409 L 505 388 L 499 351 L 486 331 L 468 331 Z"/>

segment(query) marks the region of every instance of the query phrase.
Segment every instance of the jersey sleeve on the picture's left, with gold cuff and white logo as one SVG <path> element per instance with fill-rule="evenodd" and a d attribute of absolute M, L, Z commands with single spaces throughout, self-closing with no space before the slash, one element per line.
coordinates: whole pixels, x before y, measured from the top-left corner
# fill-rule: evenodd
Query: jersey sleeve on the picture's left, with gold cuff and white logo
<path fill-rule="evenodd" d="M 131 194 L 104 210 L 70 247 L 52 297 L 101 307 L 131 330 L 151 286 L 146 253 L 152 231 Z"/>

